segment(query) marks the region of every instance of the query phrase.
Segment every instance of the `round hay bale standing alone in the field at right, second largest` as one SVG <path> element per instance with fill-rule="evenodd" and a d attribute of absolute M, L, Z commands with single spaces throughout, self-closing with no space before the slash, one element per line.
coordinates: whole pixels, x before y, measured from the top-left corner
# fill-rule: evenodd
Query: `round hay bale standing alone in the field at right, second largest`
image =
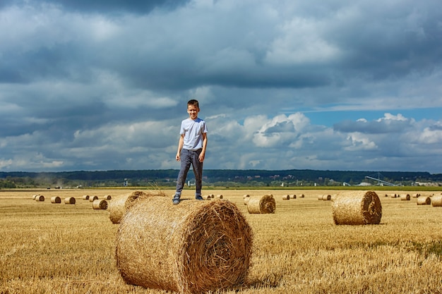
<path fill-rule="evenodd" d="M 337 225 L 365 225 L 381 222 L 382 206 L 374 191 L 342 192 L 332 202 Z"/>

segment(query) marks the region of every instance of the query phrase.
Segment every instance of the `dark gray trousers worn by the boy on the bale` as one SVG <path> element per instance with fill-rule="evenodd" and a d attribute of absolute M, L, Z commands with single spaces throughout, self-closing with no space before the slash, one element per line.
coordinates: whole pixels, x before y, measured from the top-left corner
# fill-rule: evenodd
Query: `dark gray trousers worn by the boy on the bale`
<path fill-rule="evenodd" d="M 181 196 L 181 191 L 183 190 L 184 183 L 186 182 L 187 173 L 189 172 L 192 164 L 196 185 L 195 196 L 201 196 L 201 185 L 203 182 L 203 163 L 200 162 L 200 160 L 198 159 L 201 151 L 202 149 L 198 149 L 196 151 L 184 148 L 181 149 L 181 154 L 179 155 L 181 161 L 181 169 L 178 173 L 177 192 L 175 192 L 175 195 Z"/>

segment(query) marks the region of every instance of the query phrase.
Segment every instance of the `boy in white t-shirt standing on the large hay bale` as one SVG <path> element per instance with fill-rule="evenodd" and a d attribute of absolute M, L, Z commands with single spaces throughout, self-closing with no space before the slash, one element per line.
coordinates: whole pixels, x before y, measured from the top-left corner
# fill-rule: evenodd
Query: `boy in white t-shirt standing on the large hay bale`
<path fill-rule="evenodd" d="M 203 161 L 205 157 L 205 147 L 207 147 L 207 126 L 205 121 L 198 118 L 200 106 L 195 99 L 187 102 L 187 113 L 189 118 L 181 121 L 179 130 L 178 151 L 175 157 L 177 161 L 181 161 L 181 169 L 177 178 L 177 192 L 175 192 L 172 202 L 179 204 L 181 191 L 184 188 L 187 172 L 192 164 L 193 173 L 195 174 L 196 191 L 195 199 L 203 200 L 201 197 L 201 185 L 203 181 Z"/>

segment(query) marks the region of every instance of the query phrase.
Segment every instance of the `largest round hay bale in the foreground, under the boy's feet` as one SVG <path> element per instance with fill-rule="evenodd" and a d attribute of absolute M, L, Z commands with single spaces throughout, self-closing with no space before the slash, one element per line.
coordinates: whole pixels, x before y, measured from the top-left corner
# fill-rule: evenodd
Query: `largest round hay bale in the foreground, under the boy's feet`
<path fill-rule="evenodd" d="M 229 201 L 136 201 L 117 232 L 117 269 L 126 283 L 176 293 L 241 287 L 252 231 Z"/>

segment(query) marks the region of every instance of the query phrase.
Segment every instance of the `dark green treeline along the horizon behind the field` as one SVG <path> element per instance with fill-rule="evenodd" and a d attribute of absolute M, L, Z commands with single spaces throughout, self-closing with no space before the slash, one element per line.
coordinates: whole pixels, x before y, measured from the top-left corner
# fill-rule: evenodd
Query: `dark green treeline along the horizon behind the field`
<path fill-rule="evenodd" d="M 178 170 L 114 170 L 61 172 L 0 172 L 0 188 L 58 187 L 112 187 L 112 186 L 173 186 Z M 376 184 L 377 178 L 388 183 L 412 185 L 414 182 L 442 182 L 442 174 L 407 171 L 318 171 L 318 170 L 226 170 L 206 169 L 204 185 L 218 186 L 277 186 L 277 185 L 356 185 L 361 182 Z M 189 172 L 188 180 L 193 181 Z"/>

